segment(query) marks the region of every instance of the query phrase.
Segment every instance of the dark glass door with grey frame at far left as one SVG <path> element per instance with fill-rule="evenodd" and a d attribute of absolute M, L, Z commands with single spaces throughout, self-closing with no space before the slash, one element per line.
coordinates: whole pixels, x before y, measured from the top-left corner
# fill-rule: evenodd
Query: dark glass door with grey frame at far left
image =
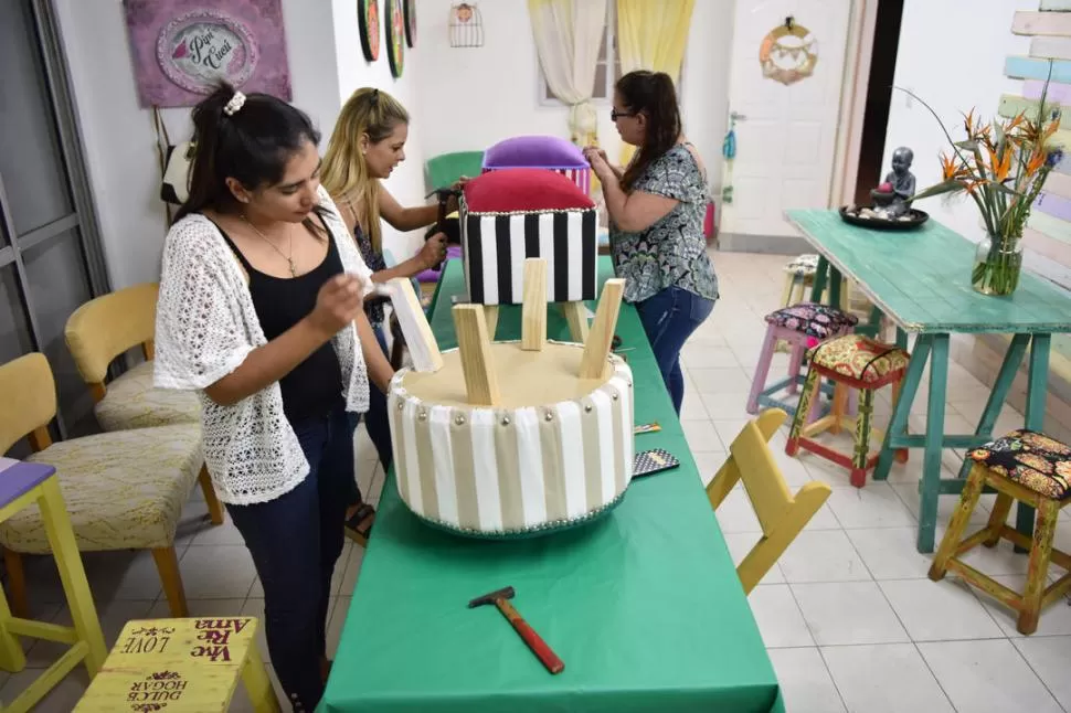
<path fill-rule="evenodd" d="M 44 353 L 56 380 L 53 437 L 65 438 L 96 422 L 64 327 L 109 284 L 60 47 L 49 0 L 0 4 L 0 363 Z M 22 443 L 11 455 L 25 453 Z"/>

